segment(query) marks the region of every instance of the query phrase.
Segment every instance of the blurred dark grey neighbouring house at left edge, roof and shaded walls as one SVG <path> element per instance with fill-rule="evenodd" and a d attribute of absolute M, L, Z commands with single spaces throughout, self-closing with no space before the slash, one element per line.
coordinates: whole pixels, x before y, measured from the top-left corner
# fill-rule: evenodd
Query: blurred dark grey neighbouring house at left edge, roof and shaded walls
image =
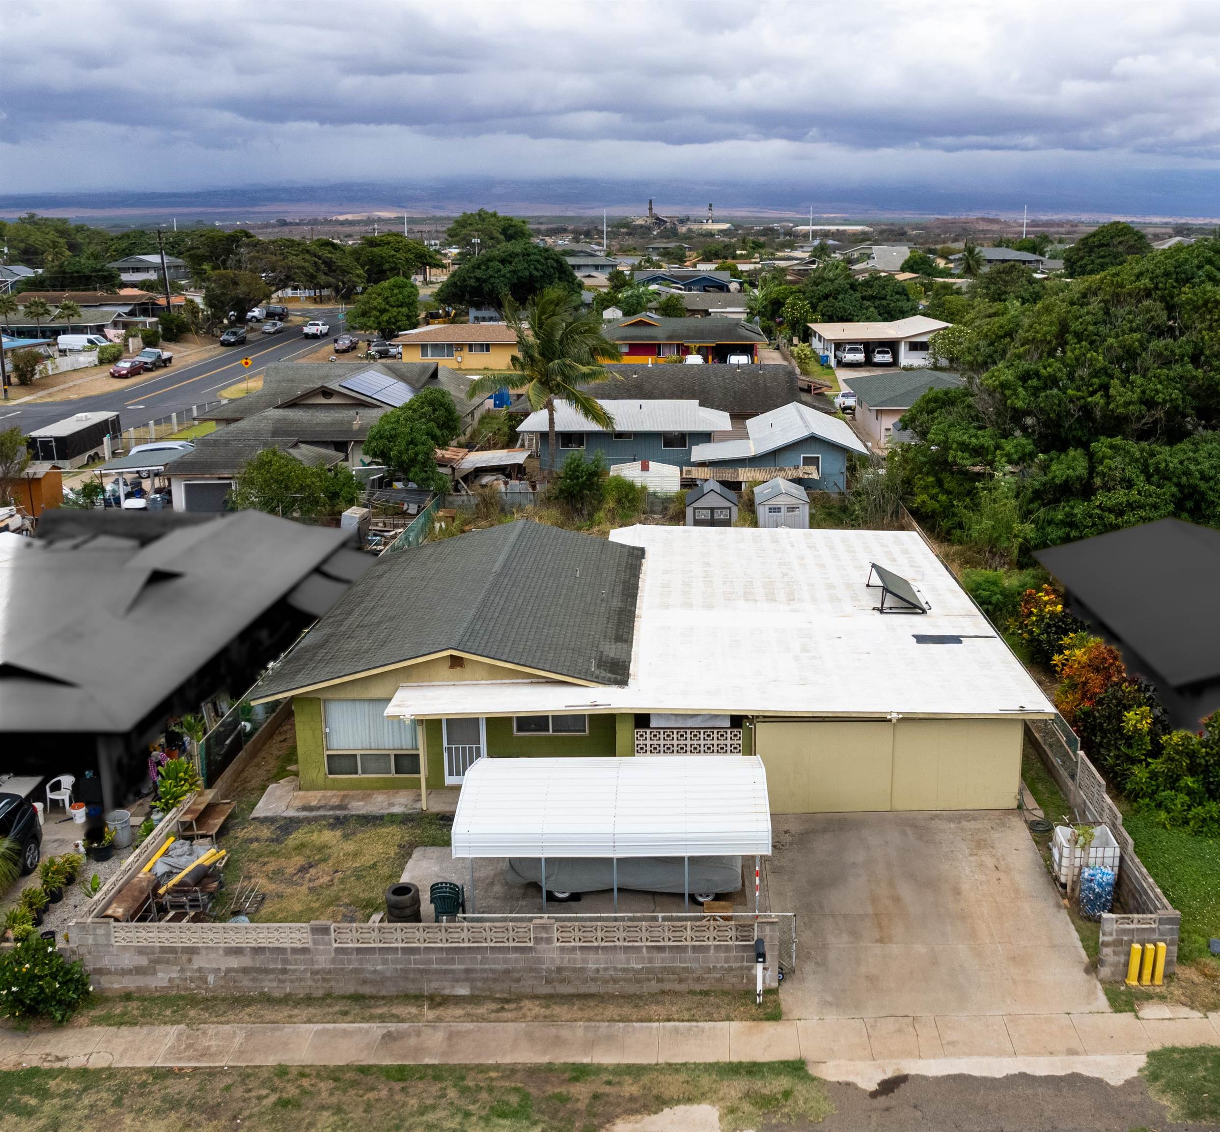
<path fill-rule="evenodd" d="M 66 507 L 0 538 L 0 766 L 78 788 L 92 771 L 123 805 L 171 716 L 242 697 L 371 565 L 350 538 L 260 511 Z"/>

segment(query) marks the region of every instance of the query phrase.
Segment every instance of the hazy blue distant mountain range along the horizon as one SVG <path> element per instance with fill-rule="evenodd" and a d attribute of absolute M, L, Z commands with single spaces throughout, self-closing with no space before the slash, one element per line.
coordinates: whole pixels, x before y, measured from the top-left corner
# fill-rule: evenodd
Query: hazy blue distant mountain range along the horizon
<path fill-rule="evenodd" d="M 1213 170 L 1133 170 L 1121 176 L 1098 176 L 1035 189 L 993 190 L 952 183 L 875 185 L 828 189 L 825 184 L 782 185 L 769 182 L 611 181 L 558 178 L 549 181 L 465 178 L 410 184 L 337 182 L 331 184 L 248 184 L 232 188 L 183 189 L 166 193 L 79 192 L 15 193 L 0 195 L 0 216 L 26 211 L 78 217 L 179 221 L 266 221 L 274 217 L 336 216 L 354 212 L 392 212 L 411 216 L 455 215 L 490 207 L 523 215 L 594 216 L 603 209 L 612 216 L 639 215 L 651 199 L 662 215 L 706 215 L 709 201 L 719 215 L 783 216 L 1013 216 L 1028 206 L 1031 216 L 1100 220 L 1121 216 L 1148 220 L 1215 222 L 1220 213 L 1218 174 Z"/>

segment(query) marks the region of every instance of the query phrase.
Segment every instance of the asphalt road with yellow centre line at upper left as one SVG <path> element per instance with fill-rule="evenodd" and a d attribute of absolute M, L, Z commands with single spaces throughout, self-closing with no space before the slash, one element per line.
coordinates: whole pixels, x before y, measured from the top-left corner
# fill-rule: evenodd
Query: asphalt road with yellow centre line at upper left
<path fill-rule="evenodd" d="M 332 312 L 307 313 L 310 317 L 325 318 Z M 332 317 L 329 322 L 333 339 L 336 321 Z M 253 326 L 244 346 L 232 346 L 218 357 L 210 357 L 189 366 L 171 366 L 137 385 L 116 381 L 113 392 L 67 401 L 28 401 L 20 405 L 0 401 L 0 429 L 17 424 L 28 434 L 45 424 L 62 421 L 74 412 L 98 411 L 117 412 L 123 428 L 146 424 L 172 412 L 189 412 L 192 405 L 215 401 L 221 389 L 242 381 L 246 374 L 253 377 L 261 373 L 268 362 L 292 361 L 312 353 L 318 345 L 317 339 L 301 338 L 301 324 L 292 326 L 281 334 L 266 337 Z M 254 359 L 254 365 L 249 370 L 242 366 L 243 357 Z"/>

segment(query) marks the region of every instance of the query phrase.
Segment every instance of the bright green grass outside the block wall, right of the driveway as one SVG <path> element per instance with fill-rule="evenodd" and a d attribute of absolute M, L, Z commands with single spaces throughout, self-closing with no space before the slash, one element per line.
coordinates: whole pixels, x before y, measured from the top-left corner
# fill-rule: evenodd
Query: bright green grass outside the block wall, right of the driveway
<path fill-rule="evenodd" d="M 1220 938 L 1220 837 L 1166 829 L 1131 809 L 1124 811 L 1122 825 L 1144 867 L 1182 914 L 1179 959 L 1208 956 L 1208 940 Z"/>

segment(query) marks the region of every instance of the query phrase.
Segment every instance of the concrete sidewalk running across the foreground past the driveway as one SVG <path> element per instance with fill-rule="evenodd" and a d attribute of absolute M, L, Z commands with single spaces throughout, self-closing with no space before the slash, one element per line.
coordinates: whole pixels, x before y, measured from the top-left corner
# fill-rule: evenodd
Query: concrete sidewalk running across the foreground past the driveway
<path fill-rule="evenodd" d="M 4 1030 L 0 1069 L 803 1060 L 820 1076 L 858 1083 L 876 1082 L 895 1072 L 1081 1072 L 1113 1082 L 1137 1072 L 1143 1055 L 1163 1045 L 1220 1045 L 1220 1016 L 93 1026 L 38 1033 Z"/>

